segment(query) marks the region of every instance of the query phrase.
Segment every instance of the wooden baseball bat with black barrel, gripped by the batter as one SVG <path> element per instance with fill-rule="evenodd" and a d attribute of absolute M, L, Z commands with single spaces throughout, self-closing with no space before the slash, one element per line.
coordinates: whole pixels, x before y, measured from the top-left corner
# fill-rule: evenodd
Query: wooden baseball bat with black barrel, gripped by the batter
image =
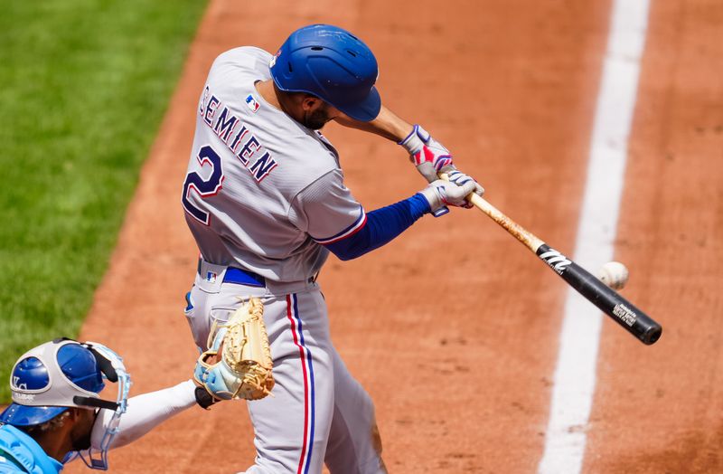
<path fill-rule="evenodd" d="M 446 174 L 440 174 L 440 177 L 447 179 Z M 605 283 L 598 280 L 589 271 L 551 248 L 547 243 L 542 242 L 519 223 L 512 221 L 481 196 L 473 193 L 469 194 L 466 199 L 474 204 L 474 207 L 491 217 L 495 223 L 500 224 L 504 230 L 510 232 L 512 236 L 537 255 L 541 261 L 547 263 L 550 270 L 555 271 L 562 280 L 568 282 L 568 285 L 577 289 L 579 294 L 597 308 L 600 308 L 627 332 L 640 339 L 643 344 L 650 346 L 660 339 L 662 335 L 661 325 L 646 315 L 642 309 L 635 307 L 633 303 L 624 299 L 614 289 L 607 287 Z"/>

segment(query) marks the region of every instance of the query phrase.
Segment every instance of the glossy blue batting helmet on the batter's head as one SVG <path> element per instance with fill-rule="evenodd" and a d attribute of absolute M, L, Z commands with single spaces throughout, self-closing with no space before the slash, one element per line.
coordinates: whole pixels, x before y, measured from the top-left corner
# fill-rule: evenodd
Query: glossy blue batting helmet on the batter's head
<path fill-rule="evenodd" d="M 270 69 L 280 90 L 315 95 L 352 119 L 368 122 L 379 115 L 377 60 L 362 40 L 342 28 L 312 24 L 296 30 Z"/>

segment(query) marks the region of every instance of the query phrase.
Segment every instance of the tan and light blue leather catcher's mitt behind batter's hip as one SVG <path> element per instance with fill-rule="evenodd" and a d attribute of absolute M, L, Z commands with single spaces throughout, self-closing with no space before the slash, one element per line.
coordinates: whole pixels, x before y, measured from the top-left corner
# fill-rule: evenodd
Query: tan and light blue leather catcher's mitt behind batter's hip
<path fill-rule="evenodd" d="M 211 327 L 209 350 L 198 358 L 193 378 L 213 398 L 258 400 L 271 392 L 273 360 L 263 315 L 261 300 L 251 298 L 227 322 Z"/>

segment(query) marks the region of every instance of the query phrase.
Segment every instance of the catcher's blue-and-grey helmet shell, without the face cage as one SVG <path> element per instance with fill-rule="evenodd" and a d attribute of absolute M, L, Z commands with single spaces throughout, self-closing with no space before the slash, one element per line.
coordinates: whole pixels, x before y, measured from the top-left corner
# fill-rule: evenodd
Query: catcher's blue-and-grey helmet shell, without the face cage
<path fill-rule="evenodd" d="M 34 347 L 18 359 L 10 376 L 13 403 L 0 423 L 31 426 L 51 420 L 70 406 L 99 398 L 103 375 L 86 346 L 58 340 Z"/>

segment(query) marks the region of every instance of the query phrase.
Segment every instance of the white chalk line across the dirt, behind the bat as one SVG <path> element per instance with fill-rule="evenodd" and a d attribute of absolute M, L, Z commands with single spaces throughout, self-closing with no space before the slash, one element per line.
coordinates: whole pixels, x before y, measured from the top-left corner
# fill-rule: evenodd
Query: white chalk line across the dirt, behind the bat
<path fill-rule="evenodd" d="M 627 139 L 645 43 L 648 0 L 615 0 L 573 260 L 595 271 L 613 260 Z M 568 289 L 540 474 L 577 474 L 587 441 L 603 315 Z"/>

